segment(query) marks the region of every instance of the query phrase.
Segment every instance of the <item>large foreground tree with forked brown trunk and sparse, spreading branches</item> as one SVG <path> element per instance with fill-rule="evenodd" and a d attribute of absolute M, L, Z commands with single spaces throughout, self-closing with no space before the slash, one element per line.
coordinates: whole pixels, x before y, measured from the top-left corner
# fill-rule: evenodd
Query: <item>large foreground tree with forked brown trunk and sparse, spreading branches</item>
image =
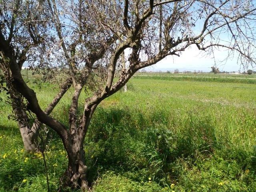
<path fill-rule="evenodd" d="M 192 45 L 209 53 L 226 48 L 230 50 L 228 56 L 238 52 L 243 63 L 255 63 L 256 9 L 251 1 L 3 2 L 1 69 L 8 89 L 21 98 L 24 116 L 27 111 L 35 114 L 38 122 L 61 138 L 68 154 L 63 186 L 88 188 L 83 144 L 92 115 L 102 100 L 120 90 L 138 70 L 166 56 L 179 56 Z M 230 43 L 224 34 L 230 35 Z M 122 53 L 126 49 L 130 50 L 129 65 L 124 68 Z M 68 127 L 38 104 L 36 93 L 21 74 L 25 61 L 42 69 L 68 69 L 64 88 L 49 105 L 52 110 L 69 86 L 74 87 Z M 78 98 L 89 84 L 94 92 L 84 101 L 84 110 L 79 114 Z"/>

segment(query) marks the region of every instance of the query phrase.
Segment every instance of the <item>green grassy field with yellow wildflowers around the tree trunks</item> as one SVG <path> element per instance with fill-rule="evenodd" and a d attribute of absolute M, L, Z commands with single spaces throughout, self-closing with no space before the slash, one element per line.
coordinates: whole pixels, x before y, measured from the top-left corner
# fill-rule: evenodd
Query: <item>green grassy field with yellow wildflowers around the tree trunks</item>
<path fill-rule="evenodd" d="M 137 74 L 127 92 L 98 106 L 84 143 L 92 191 L 256 191 L 256 76 L 174 75 Z M 55 84 L 29 85 L 42 108 L 58 92 Z M 52 113 L 64 124 L 71 96 L 72 89 Z M 42 156 L 23 150 L 0 97 L 0 191 L 46 191 Z M 46 161 L 56 191 L 67 158 L 50 135 Z"/>

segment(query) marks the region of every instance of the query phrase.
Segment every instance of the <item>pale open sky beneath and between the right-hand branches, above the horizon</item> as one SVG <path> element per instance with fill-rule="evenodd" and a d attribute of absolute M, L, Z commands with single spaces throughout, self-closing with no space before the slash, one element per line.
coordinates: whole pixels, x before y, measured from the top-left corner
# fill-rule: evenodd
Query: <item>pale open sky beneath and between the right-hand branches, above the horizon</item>
<path fill-rule="evenodd" d="M 252 4 L 256 4 L 256 0 L 252 1 Z M 198 20 L 196 26 L 193 28 L 193 31 L 196 34 L 199 34 L 202 30 L 202 25 L 204 24 L 204 20 Z M 255 27 L 255 23 L 253 24 Z M 246 28 L 240 26 L 241 29 L 246 31 Z M 255 31 L 254 31 L 255 32 Z M 223 40 L 223 44 L 229 45 L 229 42 L 232 38 L 232 35 L 228 32 L 222 32 L 219 34 L 221 38 L 220 43 Z M 256 67 L 249 66 L 248 68 L 244 68 L 240 62 L 238 61 L 238 53 L 234 52 L 232 56 L 227 58 L 229 54 L 229 50 L 226 48 L 222 48 L 221 50 L 214 50 L 213 54 L 207 55 L 204 51 L 198 50 L 196 45 L 192 45 L 187 48 L 180 57 L 178 56 L 168 56 L 165 59 L 161 60 L 157 64 L 146 68 L 147 71 L 159 71 L 162 70 L 174 71 L 178 69 L 180 72 L 182 71 L 194 71 L 194 70 L 202 70 L 203 72 L 210 72 L 211 67 L 215 66 L 219 68 L 220 71 L 247 71 L 248 69 L 252 69 L 256 71 Z"/>

